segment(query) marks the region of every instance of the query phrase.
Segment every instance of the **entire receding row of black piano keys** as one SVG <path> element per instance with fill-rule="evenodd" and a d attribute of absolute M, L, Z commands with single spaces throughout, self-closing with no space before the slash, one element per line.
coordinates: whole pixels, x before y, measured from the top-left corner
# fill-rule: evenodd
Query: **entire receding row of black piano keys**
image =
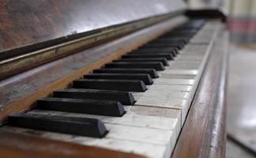
<path fill-rule="evenodd" d="M 145 85 L 152 85 L 158 70 L 168 66 L 183 49 L 203 21 L 190 21 L 122 58 L 107 63 L 104 69 L 85 74 L 83 79 L 73 81 L 73 88 L 53 92 L 53 97 L 37 101 L 36 109 L 67 111 L 91 115 L 121 117 L 123 105 L 133 105 L 131 92 L 145 92 Z M 98 119 L 72 118 L 32 113 L 9 115 L 8 124 L 35 130 L 47 130 L 88 137 L 104 137 L 107 129 Z"/>

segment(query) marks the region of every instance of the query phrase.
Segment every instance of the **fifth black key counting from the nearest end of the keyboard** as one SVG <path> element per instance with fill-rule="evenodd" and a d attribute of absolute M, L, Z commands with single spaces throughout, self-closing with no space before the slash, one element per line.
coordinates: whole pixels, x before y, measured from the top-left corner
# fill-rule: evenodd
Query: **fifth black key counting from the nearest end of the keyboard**
<path fill-rule="evenodd" d="M 114 80 L 141 80 L 145 85 L 152 85 L 152 77 L 149 74 L 135 73 L 90 73 L 84 75 L 85 79 L 114 79 Z"/>

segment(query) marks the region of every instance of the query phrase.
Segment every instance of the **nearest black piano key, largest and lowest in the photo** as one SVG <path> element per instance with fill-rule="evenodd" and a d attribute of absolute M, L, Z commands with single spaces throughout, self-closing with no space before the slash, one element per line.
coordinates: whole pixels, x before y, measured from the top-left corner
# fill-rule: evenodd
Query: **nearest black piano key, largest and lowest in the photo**
<path fill-rule="evenodd" d="M 8 125 L 87 137 L 104 137 L 107 134 L 104 123 L 98 119 L 14 113 L 8 116 Z"/>

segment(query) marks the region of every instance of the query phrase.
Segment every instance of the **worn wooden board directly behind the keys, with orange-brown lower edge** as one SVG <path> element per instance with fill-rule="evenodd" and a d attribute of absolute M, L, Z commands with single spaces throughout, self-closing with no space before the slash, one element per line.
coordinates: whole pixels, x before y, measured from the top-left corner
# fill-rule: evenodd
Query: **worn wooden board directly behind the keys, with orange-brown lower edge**
<path fill-rule="evenodd" d="M 120 40 L 115 40 L 91 50 L 81 51 L 78 54 L 70 55 L 62 58 L 62 60 L 45 64 L 34 70 L 1 81 L 0 120 L 6 119 L 10 112 L 29 109 L 37 99 L 51 95 L 51 92 L 57 88 L 66 88 L 71 81 L 82 77 L 85 73 L 120 58 L 128 51 L 147 43 L 185 21 L 186 18 L 184 17 L 165 21 L 139 32 L 134 32 L 134 34 Z"/>

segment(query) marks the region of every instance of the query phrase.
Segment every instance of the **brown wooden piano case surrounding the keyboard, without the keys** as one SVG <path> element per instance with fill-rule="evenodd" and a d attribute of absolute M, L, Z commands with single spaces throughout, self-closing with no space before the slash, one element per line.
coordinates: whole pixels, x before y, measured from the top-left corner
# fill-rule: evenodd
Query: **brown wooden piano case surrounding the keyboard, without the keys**
<path fill-rule="evenodd" d="M 187 11 L 178 0 L 145 3 L 148 1 L 1 1 L 1 121 L 5 122 L 13 111 L 30 109 L 38 98 L 51 95 L 54 89 L 68 87 L 82 74 L 183 24 L 188 17 L 209 17 L 209 10 Z M 139 12 L 141 7 L 143 12 Z M 209 14 L 225 21 L 216 10 Z M 225 156 L 227 47 L 228 33 L 223 28 L 172 157 Z M 143 157 L 6 131 L 0 131 L 0 137 L 2 156 Z"/>

